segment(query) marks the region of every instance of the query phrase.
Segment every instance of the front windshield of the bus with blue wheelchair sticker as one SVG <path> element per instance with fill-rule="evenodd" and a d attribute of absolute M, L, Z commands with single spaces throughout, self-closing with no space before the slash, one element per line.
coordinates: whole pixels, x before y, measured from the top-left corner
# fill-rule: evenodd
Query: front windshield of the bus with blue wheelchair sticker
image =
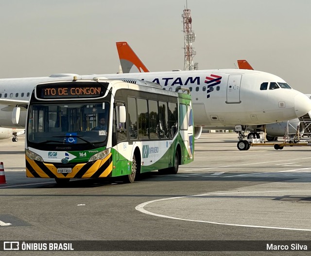
<path fill-rule="evenodd" d="M 60 144 L 72 149 L 105 144 L 109 128 L 108 102 L 58 102 L 33 104 L 29 108 L 27 140 L 30 145 L 52 150 Z"/>

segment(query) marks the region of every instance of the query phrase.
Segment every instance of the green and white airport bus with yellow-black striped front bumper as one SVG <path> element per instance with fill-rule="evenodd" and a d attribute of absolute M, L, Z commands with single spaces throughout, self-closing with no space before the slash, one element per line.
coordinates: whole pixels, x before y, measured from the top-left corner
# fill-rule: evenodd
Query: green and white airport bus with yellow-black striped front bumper
<path fill-rule="evenodd" d="M 64 184 L 118 176 L 133 183 L 153 170 L 176 174 L 193 161 L 193 131 L 189 91 L 136 79 L 41 83 L 27 108 L 26 176 Z"/>

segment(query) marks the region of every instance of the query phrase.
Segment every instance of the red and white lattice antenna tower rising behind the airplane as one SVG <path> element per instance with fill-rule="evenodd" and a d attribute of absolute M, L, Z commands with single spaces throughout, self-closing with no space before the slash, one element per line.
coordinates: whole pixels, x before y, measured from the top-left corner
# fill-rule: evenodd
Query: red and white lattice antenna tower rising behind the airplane
<path fill-rule="evenodd" d="M 185 50 L 185 60 L 184 60 L 184 70 L 197 70 L 198 63 L 193 64 L 193 56 L 196 52 L 193 51 L 192 43 L 195 41 L 195 34 L 192 31 L 192 18 L 190 10 L 188 9 L 188 2 L 186 0 L 186 9 L 182 15 L 184 24 L 184 50 Z"/>

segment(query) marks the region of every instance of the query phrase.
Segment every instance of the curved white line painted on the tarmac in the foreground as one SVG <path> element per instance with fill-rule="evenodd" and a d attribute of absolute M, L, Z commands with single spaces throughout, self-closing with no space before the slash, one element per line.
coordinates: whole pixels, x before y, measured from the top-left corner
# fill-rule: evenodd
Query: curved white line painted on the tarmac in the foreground
<path fill-rule="evenodd" d="M 228 195 L 228 194 L 250 194 L 250 193 L 272 193 L 272 192 L 311 192 L 311 190 L 284 190 L 284 191 L 254 191 L 254 192 L 228 192 L 228 193 L 211 193 L 211 194 L 201 194 L 201 195 L 194 195 L 194 196 L 183 196 L 183 197 L 171 197 L 171 198 L 162 198 L 152 201 L 147 201 L 138 204 L 135 209 L 141 213 L 153 215 L 156 217 L 167 218 L 167 219 L 178 219 L 178 220 L 186 220 L 186 221 L 193 221 L 193 222 L 203 222 L 203 223 L 210 223 L 210 224 L 218 224 L 218 225 L 226 225 L 226 226 L 238 226 L 238 227 L 252 227 L 252 228 L 267 228 L 267 229 L 282 229 L 282 230 L 296 230 L 296 231 L 311 231 L 311 229 L 303 229 L 303 228 L 282 228 L 282 227 L 269 227 L 269 226 L 256 226 L 256 225 L 243 225 L 243 224 L 231 224 L 231 223 L 222 223 L 222 222 L 214 222 L 214 221 L 207 221 L 207 220 L 196 220 L 196 219 L 182 219 L 171 217 L 167 215 L 161 215 L 149 212 L 144 209 L 144 207 L 153 202 L 157 201 L 164 201 L 164 200 L 173 200 L 179 198 L 190 198 L 190 197 L 202 197 L 202 196 L 210 196 L 210 195 Z"/>

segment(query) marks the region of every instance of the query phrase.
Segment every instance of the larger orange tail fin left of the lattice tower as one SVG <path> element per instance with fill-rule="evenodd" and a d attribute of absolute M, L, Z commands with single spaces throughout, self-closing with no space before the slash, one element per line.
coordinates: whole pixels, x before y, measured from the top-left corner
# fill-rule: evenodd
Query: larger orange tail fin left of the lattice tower
<path fill-rule="evenodd" d="M 116 42 L 123 73 L 150 72 L 127 42 Z"/>

